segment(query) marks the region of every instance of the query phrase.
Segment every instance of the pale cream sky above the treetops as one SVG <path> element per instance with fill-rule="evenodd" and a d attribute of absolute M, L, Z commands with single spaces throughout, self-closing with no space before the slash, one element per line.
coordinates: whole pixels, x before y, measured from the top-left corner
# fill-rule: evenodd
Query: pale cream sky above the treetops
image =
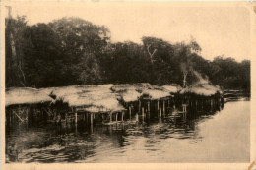
<path fill-rule="evenodd" d="M 110 29 L 111 41 L 142 43 L 155 36 L 170 43 L 191 37 L 201 55 L 213 60 L 224 55 L 237 61 L 251 59 L 251 18 L 246 5 L 174 2 L 22 3 L 12 7 L 13 17 L 26 15 L 28 24 L 48 23 L 62 17 L 79 17 Z"/>

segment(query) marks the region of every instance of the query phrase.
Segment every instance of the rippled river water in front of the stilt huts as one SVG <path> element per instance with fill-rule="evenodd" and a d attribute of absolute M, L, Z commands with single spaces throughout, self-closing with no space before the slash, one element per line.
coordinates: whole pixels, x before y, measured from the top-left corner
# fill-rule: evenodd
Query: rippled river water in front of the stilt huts
<path fill-rule="evenodd" d="M 249 162 L 250 101 L 224 104 L 194 118 L 103 126 L 20 124 L 6 132 L 19 162 Z M 8 162 L 8 156 L 7 162 Z"/>

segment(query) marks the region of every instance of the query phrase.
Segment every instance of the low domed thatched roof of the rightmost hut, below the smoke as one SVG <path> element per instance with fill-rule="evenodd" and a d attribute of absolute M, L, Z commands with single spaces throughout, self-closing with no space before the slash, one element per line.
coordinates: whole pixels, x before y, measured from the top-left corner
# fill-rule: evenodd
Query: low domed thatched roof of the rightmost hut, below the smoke
<path fill-rule="evenodd" d="M 218 85 L 213 85 L 210 83 L 191 85 L 180 91 L 181 94 L 194 93 L 205 96 L 215 95 L 218 92 L 222 93 L 221 88 Z"/>

